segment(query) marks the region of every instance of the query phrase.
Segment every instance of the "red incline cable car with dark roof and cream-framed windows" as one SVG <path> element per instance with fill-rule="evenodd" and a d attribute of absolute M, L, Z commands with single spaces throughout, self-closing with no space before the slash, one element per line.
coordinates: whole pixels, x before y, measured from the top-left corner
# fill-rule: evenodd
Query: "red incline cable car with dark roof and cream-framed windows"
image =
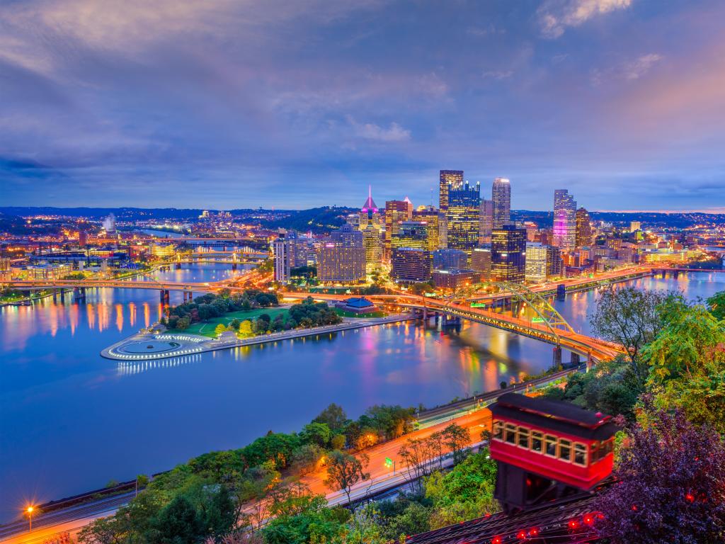
<path fill-rule="evenodd" d="M 611 416 L 541 397 L 505 393 L 490 406 L 496 498 L 506 511 L 590 490 L 609 476 Z"/>

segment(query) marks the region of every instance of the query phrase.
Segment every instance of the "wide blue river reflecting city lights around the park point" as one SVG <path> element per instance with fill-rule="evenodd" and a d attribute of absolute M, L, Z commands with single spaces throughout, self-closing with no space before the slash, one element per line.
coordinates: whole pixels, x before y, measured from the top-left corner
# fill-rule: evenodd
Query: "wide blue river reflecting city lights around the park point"
<path fill-rule="evenodd" d="M 231 274 L 228 265 L 185 266 L 159 278 Z M 725 273 L 633 283 L 708 297 L 725 289 Z M 171 296 L 178 303 L 181 295 Z M 570 294 L 555 305 L 587 332 L 595 298 Z M 297 430 L 329 403 L 350 417 L 376 403 L 433 406 L 552 363 L 550 345 L 475 323 L 460 332 L 400 323 L 135 366 L 101 358 L 160 312 L 158 292 L 142 289 L 0 309 L 0 520 L 27 500 L 169 469 L 270 429 Z"/>

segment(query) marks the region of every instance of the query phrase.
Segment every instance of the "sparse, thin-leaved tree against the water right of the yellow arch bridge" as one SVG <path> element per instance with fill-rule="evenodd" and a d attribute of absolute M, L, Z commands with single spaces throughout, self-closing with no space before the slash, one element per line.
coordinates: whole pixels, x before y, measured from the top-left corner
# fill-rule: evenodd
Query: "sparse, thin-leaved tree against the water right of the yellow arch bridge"
<path fill-rule="evenodd" d="M 640 365 L 639 352 L 655 338 L 660 326 L 657 308 L 666 296 L 636 287 L 610 287 L 600 294 L 597 308 L 589 316 L 595 333 L 624 347 L 640 387 L 645 383 L 646 369 Z"/>

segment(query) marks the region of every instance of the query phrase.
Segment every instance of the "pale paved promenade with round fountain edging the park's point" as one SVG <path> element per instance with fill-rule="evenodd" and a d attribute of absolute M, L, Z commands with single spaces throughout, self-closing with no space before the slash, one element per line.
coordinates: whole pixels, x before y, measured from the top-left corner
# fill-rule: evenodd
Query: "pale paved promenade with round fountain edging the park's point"
<path fill-rule="evenodd" d="M 337 325 L 314 327 L 312 329 L 292 329 L 290 331 L 261 334 L 257 337 L 229 339 L 210 339 L 196 334 L 134 334 L 132 337 L 116 342 L 104 350 L 101 357 L 114 360 L 154 360 L 179 357 L 181 355 L 195 355 L 217 350 L 231 350 L 235 347 L 266 344 L 268 342 L 281 342 L 296 338 L 314 337 L 320 334 L 333 334 L 342 331 L 352 331 L 365 327 L 413 321 L 418 319 L 410 313 L 399 313 L 383 318 L 357 318 L 346 319 Z M 175 344 L 175 346 L 173 346 Z M 148 349 L 140 352 L 146 345 Z M 136 353 L 138 352 L 138 353 Z"/>

